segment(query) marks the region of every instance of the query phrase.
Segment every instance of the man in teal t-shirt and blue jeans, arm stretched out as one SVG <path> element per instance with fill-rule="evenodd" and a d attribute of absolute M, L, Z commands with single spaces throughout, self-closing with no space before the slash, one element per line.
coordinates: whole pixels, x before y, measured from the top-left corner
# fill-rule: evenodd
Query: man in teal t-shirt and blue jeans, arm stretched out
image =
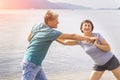
<path fill-rule="evenodd" d="M 58 14 L 48 10 L 44 16 L 44 23 L 36 24 L 28 36 L 29 46 L 23 59 L 22 80 L 47 80 L 41 64 L 46 56 L 49 46 L 56 40 L 90 40 L 76 34 L 65 34 L 54 30 L 58 25 Z"/>

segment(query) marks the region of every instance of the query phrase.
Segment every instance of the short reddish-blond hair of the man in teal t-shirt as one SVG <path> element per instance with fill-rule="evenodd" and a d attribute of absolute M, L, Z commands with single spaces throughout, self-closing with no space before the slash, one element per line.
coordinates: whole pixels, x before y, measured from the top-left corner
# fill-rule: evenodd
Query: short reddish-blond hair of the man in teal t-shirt
<path fill-rule="evenodd" d="M 48 10 L 44 16 L 44 22 L 45 24 L 48 23 L 48 21 L 54 20 L 58 17 L 58 14 L 55 11 Z"/>

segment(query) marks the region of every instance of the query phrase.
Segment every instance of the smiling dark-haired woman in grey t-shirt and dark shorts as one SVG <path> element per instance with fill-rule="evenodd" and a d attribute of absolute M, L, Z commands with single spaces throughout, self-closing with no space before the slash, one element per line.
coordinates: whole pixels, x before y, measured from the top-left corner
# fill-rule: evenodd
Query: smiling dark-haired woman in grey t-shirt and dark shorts
<path fill-rule="evenodd" d="M 120 63 L 118 59 L 111 52 L 106 40 L 99 33 L 92 33 L 93 28 L 93 23 L 90 20 L 84 20 L 80 27 L 83 35 L 91 37 L 92 41 L 61 40 L 61 42 L 65 45 L 80 45 L 94 60 L 95 65 L 93 66 L 89 80 L 99 80 L 105 70 L 112 71 L 117 80 L 120 80 Z"/>

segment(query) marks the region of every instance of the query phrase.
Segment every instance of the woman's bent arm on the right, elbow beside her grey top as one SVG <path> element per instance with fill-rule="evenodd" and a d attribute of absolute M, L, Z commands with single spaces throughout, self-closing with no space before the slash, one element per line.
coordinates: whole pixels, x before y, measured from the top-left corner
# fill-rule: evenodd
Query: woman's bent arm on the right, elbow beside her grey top
<path fill-rule="evenodd" d="M 106 42 L 106 40 L 102 40 L 100 44 L 98 44 L 98 39 L 94 42 L 95 46 L 98 47 L 99 49 L 109 52 L 111 50 L 109 44 Z"/>

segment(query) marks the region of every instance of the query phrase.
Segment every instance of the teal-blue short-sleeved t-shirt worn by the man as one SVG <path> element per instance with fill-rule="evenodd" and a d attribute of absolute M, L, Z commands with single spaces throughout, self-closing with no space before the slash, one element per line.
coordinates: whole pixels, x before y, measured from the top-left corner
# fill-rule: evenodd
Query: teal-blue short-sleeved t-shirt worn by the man
<path fill-rule="evenodd" d="M 25 54 L 25 59 L 36 65 L 41 65 L 49 46 L 61 34 L 61 32 L 43 23 L 35 25 L 32 28 L 32 37 Z"/>

